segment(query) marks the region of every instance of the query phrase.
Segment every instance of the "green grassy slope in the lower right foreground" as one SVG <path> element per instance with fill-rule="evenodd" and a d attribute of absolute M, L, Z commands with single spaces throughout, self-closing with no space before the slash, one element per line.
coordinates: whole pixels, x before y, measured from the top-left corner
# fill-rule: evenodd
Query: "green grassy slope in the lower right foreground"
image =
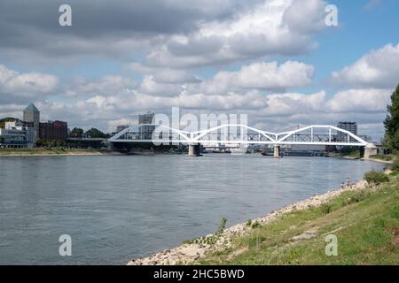
<path fill-rule="evenodd" d="M 291 240 L 309 230 L 317 231 L 314 238 Z M 338 238 L 338 256 L 325 255 L 328 234 Z M 397 178 L 285 214 L 198 264 L 399 264 Z"/>

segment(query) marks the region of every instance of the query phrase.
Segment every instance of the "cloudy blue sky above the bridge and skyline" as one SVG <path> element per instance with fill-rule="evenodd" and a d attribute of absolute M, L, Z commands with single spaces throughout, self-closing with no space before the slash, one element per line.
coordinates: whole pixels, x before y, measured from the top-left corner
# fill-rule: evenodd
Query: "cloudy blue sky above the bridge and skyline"
<path fill-rule="evenodd" d="M 113 132 L 179 107 L 247 114 L 271 132 L 356 121 L 379 142 L 399 83 L 397 11 L 397 0 L 2 0 L 0 118 L 32 102 L 42 120 Z"/>

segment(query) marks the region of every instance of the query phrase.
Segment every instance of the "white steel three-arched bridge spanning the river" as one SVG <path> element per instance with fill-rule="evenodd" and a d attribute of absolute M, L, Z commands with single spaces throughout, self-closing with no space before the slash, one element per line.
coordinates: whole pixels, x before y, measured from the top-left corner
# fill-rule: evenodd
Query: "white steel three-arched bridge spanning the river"
<path fill-rule="evenodd" d="M 140 142 L 155 145 L 188 144 L 189 155 L 199 155 L 200 145 L 208 148 L 221 146 L 273 145 L 275 157 L 280 155 L 281 145 L 351 146 L 363 149 L 373 145 L 362 138 L 330 125 L 311 125 L 283 133 L 272 133 L 251 126 L 225 124 L 200 131 L 187 131 L 165 125 L 144 124 L 129 126 L 113 135 L 108 142 Z M 361 151 L 362 151 L 361 150 Z"/>

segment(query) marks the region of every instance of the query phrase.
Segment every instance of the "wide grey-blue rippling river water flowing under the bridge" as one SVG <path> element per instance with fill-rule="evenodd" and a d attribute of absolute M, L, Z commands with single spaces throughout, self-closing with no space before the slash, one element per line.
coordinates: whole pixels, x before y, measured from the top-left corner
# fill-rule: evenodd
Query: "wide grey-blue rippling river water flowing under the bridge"
<path fill-rule="evenodd" d="M 0 264 L 126 264 L 383 164 L 261 155 L 0 157 Z M 59 256 L 70 235 L 72 256 Z"/>

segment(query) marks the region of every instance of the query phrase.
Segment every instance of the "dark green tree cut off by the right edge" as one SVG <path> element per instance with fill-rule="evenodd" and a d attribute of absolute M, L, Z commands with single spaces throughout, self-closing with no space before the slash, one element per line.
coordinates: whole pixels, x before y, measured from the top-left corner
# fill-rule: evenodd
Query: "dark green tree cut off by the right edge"
<path fill-rule="evenodd" d="M 384 142 L 390 149 L 399 149 L 399 85 L 391 96 L 391 105 L 387 106 L 387 119 L 384 121 Z"/>

